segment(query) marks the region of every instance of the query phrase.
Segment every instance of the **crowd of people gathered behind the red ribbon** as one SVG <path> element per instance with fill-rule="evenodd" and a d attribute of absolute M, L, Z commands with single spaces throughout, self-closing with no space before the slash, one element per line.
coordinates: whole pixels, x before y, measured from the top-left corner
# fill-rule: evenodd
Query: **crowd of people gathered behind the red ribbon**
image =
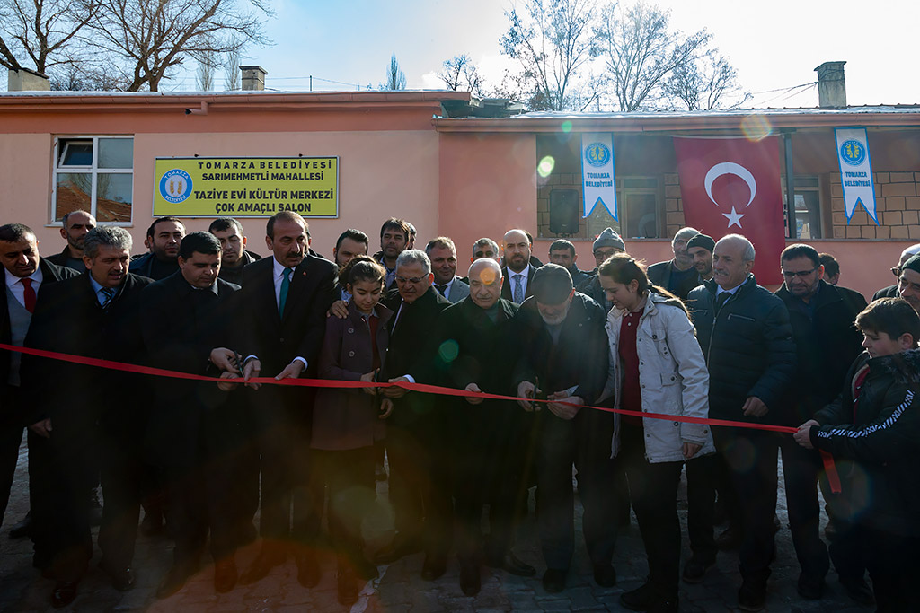
<path fill-rule="evenodd" d="M 648 269 L 607 228 L 591 271 L 566 240 L 542 264 L 530 234 L 512 229 L 473 244 L 462 278 L 450 238 L 417 249 L 398 219 L 373 255 L 366 233 L 341 233 L 331 260 L 291 211 L 268 220 L 266 257 L 231 218 L 207 233 L 158 218 L 134 258 L 129 233 L 85 211 L 66 215 L 61 233 L 63 252 L 42 257 L 27 226 L 0 226 L 0 343 L 26 349 L 0 351 L 0 517 L 25 429 L 30 511 L 17 529 L 54 582 L 54 607 L 75 599 L 93 557 L 98 486 L 99 567 L 120 590 L 134 585 L 143 507 L 143 525 L 162 528 L 165 516 L 174 542 L 159 597 L 206 551 L 217 592 L 289 557 L 297 581 L 316 586 L 324 514 L 342 604 L 378 565 L 416 552 L 434 581 L 454 551 L 460 587 L 476 596 L 483 565 L 536 574 L 515 553 L 536 488 L 542 585 L 561 592 L 576 547 L 574 468 L 598 585 L 616 584 L 630 507 L 638 520 L 650 573 L 624 607 L 678 610 L 679 582 L 706 581 L 719 549 L 740 548 L 738 606 L 759 610 L 781 458 L 799 596 L 821 598 L 833 562 L 858 603 L 920 610 L 909 583 L 920 571 L 920 244 L 867 304 L 836 285 L 833 256 L 807 244 L 783 251 L 785 282 L 771 292 L 753 277 L 750 241 L 693 228 Z M 305 378 L 333 382 L 296 384 Z M 380 479 L 395 536 L 366 551 Z M 729 522 L 718 536 L 717 517 Z M 235 552 L 256 539 L 238 571 Z"/>

